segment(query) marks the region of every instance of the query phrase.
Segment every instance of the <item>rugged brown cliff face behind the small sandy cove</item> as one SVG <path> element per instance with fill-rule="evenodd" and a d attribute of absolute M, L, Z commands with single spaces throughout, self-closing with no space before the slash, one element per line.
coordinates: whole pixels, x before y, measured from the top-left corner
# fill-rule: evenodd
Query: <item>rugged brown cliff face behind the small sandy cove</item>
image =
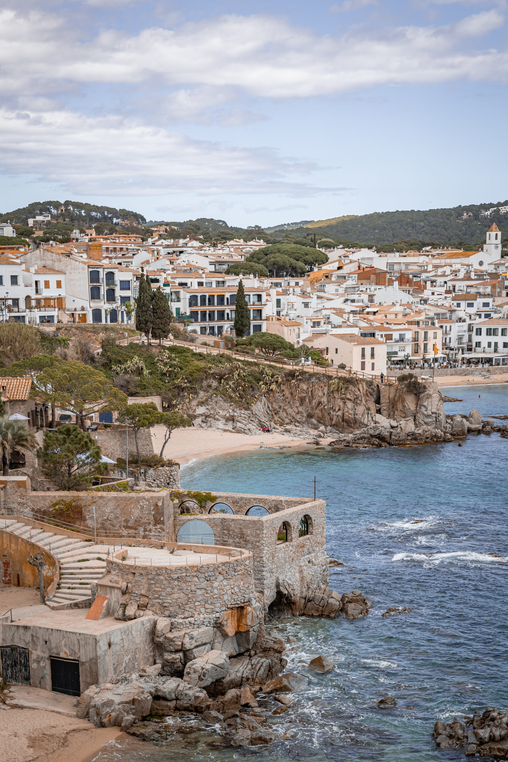
<path fill-rule="evenodd" d="M 274 375 L 253 405 L 224 395 L 216 382 L 191 400 L 189 412 L 195 426 L 243 434 L 263 426 L 302 437 L 353 434 L 379 422 L 376 413 L 388 427 L 392 421 L 413 430 L 446 428 L 443 397 L 434 383 L 411 391 L 402 384 L 368 385 L 362 379 L 298 372 Z"/>

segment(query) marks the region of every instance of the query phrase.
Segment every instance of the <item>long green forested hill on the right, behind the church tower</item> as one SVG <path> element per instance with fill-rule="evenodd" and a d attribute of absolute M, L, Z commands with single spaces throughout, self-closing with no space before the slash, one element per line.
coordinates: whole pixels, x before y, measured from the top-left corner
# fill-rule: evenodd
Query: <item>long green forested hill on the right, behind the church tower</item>
<path fill-rule="evenodd" d="M 334 217 L 294 228 L 291 233 L 298 237 L 315 233 L 318 239 L 346 239 L 362 245 L 382 245 L 403 240 L 436 242 L 441 245 L 473 245 L 484 243 L 485 232 L 492 223 L 496 223 L 504 234 L 503 242 L 508 245 L 508 213 L 501 214 L 499 210 L 499 207 L 506 206 L 508 200 L 449 209 L 375 212 Z M 493 216 L 480 216 L 482 211 L 491 207 L 498 207 Z M 471 213 L 471 216 L 462 219 L 464 213 Z M 287 228 L 278 229 L 271 235 L 274 238 L 282 238 L 287 232 Z"/>

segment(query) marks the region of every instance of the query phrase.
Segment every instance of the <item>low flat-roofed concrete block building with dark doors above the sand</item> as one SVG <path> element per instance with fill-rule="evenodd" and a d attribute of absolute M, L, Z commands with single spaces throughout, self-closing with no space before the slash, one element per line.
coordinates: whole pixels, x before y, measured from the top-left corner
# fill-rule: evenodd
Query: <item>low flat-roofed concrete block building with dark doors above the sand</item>
<path fill-rule="evenodd" d="M 152 617 L 101 623 L 85 620 L 85 611 L 48 610 L 37 620 L 0 623 L 0 642 L 28 648 L 30 683 L 51 690 L 50 656 L 79 660 L 81 691 L 107 683 L 154 663 Z M 57 615 L 57 616 L 55 616 Z"/>

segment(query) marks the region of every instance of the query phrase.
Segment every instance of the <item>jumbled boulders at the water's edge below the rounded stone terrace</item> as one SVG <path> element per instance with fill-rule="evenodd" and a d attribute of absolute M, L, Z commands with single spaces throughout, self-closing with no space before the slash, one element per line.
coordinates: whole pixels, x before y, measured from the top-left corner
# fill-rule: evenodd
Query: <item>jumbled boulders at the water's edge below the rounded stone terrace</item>
<path fill-rule="evenodd" d="M 372 601 L 359 590 L 340 596 L 324 588 L 310 603 L 304 616 L 334 618 L 342 613 L 354 620 L 369 613 Z M 264 615 L 260 604 L 252 609 L 250 626 L 243 631 L 238 616 L 235 623 L 229 615 L 215 627 L 181 629 L 181 620 L 146 610 L 143 616 L 153 620 L 157 662 L 139 673 L 89 687 L 79 698 L 78 718 L 88 718 L 97 728 L 117 726 L 142 740 L 161 741 L 170 732 L 171 718 L 192 713 L 200 716 L 203 728 L 216 726 L 224 745 L 274 741 L 277 735 L 267 715 L 288 711 L 289 694 L 306 684 L 306 678 L 293 672 L 281 674 L 288 663 L 286 648 L 294 639 L 285 642 L 273 630 L 267 632 L 265 623 L 271 617 Z M 238 652 L 239 645 L 243 652 Z M 308 666 L 324 674 L 334 669 L 322 656 Z"/>

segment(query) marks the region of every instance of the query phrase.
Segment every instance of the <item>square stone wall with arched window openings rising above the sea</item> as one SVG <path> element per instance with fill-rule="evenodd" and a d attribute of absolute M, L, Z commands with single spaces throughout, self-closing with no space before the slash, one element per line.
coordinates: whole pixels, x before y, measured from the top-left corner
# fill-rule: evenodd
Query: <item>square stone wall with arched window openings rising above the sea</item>
<path fill-rule="evenodd" d="M 225 498 L 227 495 L 222 493 Z M 257 498 L 260 498 L 257 495 Z M 308 517 L 309 534 L 299 537 L 299 523 Z M 174 517 L 174 532 L 191 520 L 190 516 Z M 326 504 L 309 501 L 289 507 L 283 512 L 264 517 L 231 514 L 206 514 L 200 517 L 212 528 L 216 543 L 250 549 L 254 557 L 254 584 L 268 607 L 277 595 L 295 608 L 303 610 L 308 597 L 328 581 L 326 542 Z M 277 530 L 286 523 L 288 542 L 277 544 Z"/>

